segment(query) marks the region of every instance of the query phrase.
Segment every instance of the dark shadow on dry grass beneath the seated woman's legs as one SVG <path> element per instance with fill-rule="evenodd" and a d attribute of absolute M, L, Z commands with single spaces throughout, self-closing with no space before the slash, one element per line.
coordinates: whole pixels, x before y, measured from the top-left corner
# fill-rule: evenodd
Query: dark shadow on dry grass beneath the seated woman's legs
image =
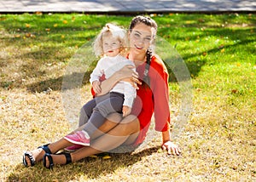
<path fill-rule="evenodd" d="M 32 168 L 25 168 L 19 164 L 7 177 L 7 181 L 68 181 L 84 177 L 97 179 L 102 175 L 114 173 L 118 168 L 128 168 L 142 160 L 143 156 L 150 156 L 157 152 L 159 147 L 144 149 L 143 151 L 130 153 L 110 153 L 110 159 L 103 159 L 102 154 L 96 158 L 86 157 L 79 162 L 63 166 L 55 166 L 53 170 L 44 168 L 42 162 Z"/>

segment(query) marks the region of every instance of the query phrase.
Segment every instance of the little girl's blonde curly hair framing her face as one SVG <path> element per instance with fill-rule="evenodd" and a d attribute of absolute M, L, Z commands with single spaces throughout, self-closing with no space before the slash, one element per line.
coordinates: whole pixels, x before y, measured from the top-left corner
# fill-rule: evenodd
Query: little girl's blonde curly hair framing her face
<path fill-rule="evenodd" d="M 120 42 L 120 54 L 125 54 L 126 45 L 127 45 L 127 37 L 125 29 L 122 29 L 119 26 L 115 26 L 113 24 L 106 24 L 102 28 L 102 31 L 96 37 L 93 48 L 96 56 L 102 56 L 104 54 L 103 51 L 103 37 L 113 36 L 116 37 Z"/>

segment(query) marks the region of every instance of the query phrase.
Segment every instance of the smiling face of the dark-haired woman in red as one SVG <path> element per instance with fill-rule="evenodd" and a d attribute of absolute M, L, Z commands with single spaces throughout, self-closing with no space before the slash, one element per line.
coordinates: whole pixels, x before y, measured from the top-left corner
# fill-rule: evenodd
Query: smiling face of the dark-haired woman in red
<path fill-rule="evenodd" d="M 130 51 L 136 54 L 146 54 L 153 42 L 154 28 L 139 23 L 130 31 Z"/>

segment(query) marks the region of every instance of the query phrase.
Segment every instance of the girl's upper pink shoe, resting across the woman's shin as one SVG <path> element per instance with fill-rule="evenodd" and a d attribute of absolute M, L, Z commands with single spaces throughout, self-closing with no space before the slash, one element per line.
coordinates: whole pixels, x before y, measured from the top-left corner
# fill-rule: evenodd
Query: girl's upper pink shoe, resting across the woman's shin
<path fill-rule="evenodd" d="M 87 137 L 85 135 L 87 135 Z M 84 146 L 90 145 L 90 137 L 84 131 L 77 131 L 74 134 L 69 134 L 65 136 L 64 139 L 67 139 L 67 141 L 73 144 L 84 145 Z"/>

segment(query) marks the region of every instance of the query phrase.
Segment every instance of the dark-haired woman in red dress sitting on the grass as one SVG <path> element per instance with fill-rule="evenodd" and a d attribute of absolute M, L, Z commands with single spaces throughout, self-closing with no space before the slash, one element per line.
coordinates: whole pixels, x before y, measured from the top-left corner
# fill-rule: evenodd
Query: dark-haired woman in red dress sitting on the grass
<path fill-rule="evenodd" d="M 111 151 L 119 146 L 136 149 L 145 139 L 153 112 L 155 129 L 162 133 L 162 149 L 168 154 L 180 154 L 181 151 L 172 143 L 170 134 L 168 72 L 164 63 L 150 50 L 156 31 L 154 20 L 143 16 L 133 18 L 128 32 L 130 50 L 127 58 L 134 61 L 138 75 L 131 70 L 131 65 L 127 65 L 101 84 L 101 94 L 106 94 L 116 82 L 127 80 L 127 77 L 131 78 L 131 82 L 137 82 L 137 78 L 143 82 L 138 84 L 131 115 L 122 118 L 118 114 L 112 114 L 93 134 L 90 146 L 83 146 L 70 154 L 55 155 L 57 151 L 73 146 L 66 139 L 41 146 L 32 152 L 27 151 L 23 158 L 26 166 L 32 166 L 43 159 L 44 167 L 52 168 L 54 164 L 77 162 L 86 156 Z M 80 118 L 79 125 L 83 124 Z"/>

